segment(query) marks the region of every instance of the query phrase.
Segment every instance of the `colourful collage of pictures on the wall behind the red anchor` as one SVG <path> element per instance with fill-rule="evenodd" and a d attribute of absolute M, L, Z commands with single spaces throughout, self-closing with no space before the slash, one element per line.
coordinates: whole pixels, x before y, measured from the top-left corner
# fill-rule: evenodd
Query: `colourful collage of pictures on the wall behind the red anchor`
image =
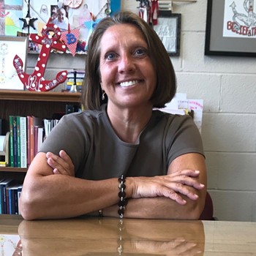
<path fill-rule="evenodd" d="M 39 34 L 51 19 L 61 32 L 79 31 L 76 53 L 85 53 L 92 23 L 111 12 L 120 0 L 0 0 L 0 34 Z M 116 10 L 116 9 L 115 9 Z M 26 18 L 30 20 L 26 20 Z M 29 44 L 29 52 L 39 52 L 40 45 Z M 67 50 L 69 52 L 69 49 Z"/>

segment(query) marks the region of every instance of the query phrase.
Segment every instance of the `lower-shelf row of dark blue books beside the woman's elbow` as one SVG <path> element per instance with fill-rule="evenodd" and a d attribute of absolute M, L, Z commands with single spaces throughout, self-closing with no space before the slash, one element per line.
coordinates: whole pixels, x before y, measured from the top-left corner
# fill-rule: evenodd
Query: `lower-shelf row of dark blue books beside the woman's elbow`
<path fill-rule="evenodd" d="M 0 180 L 0 214 L 20 214 L 22 184 L 12 178 Z"/>

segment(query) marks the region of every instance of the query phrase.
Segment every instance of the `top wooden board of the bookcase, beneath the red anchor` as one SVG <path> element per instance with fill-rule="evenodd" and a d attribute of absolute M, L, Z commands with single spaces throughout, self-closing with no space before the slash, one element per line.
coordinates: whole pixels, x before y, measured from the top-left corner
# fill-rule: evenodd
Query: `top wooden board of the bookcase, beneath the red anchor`
<path fill-rule="evenodd" d="M 0 99 L 42 101 L 42 102 L 80 102 L 80 92 L 19 91 L 0 90 Z"/>

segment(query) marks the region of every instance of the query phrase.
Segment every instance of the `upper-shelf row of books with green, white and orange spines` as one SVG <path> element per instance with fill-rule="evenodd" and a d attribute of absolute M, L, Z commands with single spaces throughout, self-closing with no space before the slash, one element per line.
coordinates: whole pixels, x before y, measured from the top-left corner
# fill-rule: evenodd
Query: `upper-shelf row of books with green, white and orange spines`
<path fill-rule="evenodd" d="M 9 116 L 9 165 L 26 168 L 39 151 L 43 140 L 58 124 L 57 119 L 42 119 L 36 116 Z"/>

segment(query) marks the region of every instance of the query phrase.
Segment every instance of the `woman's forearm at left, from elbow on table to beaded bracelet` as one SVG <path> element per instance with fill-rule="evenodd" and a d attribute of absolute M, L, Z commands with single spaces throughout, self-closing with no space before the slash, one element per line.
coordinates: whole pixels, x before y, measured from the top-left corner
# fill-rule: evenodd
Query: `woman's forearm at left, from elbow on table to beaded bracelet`
<path fill-rule="evenodd" d="M 51 175 L 26 181 L 20 197 L 20 212 L 25 219 L 68 218 L 117 202 L 116 178 L 88 181 L 71 176 Z"/>

